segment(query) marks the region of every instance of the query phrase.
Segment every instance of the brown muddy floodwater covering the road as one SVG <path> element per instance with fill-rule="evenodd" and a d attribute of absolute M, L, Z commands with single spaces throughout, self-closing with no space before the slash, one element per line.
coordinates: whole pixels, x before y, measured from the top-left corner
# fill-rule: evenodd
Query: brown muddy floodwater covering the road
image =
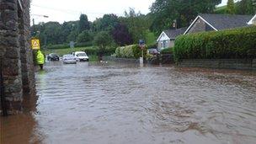
<path fill-rule="evenodd" d="M 256 72 L 51 63 L 1 143 L 256 143 Z"/>

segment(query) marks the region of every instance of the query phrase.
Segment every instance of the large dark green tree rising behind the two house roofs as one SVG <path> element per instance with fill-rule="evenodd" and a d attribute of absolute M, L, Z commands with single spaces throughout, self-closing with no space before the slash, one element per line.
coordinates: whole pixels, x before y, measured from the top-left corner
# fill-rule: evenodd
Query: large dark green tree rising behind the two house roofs
<path fill-rule="evenodd" d="M 198 13 L 213 13 L 221 0 L 156 0 L 152 4 L 151 29 L 159 34 L 163 29 L 170 29 L 176 20 L 178 28 L 188 26 Z"/>

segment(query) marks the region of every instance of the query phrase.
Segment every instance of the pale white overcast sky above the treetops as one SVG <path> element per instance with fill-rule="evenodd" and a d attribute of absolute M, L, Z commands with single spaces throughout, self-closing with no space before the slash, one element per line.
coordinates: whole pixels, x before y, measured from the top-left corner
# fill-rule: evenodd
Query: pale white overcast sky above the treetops
<path fill-rule="evenodd" d="M 222 0 L 221 5 L 227 0 Z M 155 0 L 32 0 L 31 19 L 35 24 L 39 22 L 77 20 L 81 13 L 86 13 L 90 21 L 101 18 L 104 13 L 115 13 L 118 16 L 124 15 L 125 10 L 135 8 L 136 12 L 149 13 L 149 8 Z M 49 18 L 42 18 L 39 15 L 47 15 Z"/>

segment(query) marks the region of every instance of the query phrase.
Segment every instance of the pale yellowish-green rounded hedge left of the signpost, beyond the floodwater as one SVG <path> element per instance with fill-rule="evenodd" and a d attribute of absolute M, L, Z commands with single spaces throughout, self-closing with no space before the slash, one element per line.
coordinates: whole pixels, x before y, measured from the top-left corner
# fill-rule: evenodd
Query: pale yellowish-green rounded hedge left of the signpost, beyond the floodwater
<path fill-rule="evenodd" d="M 144 49 L 144 56 L 147 55 L 147 46 Z M 115 55 L 117 57 L 124 58 L 139 58 L 141 57 L 141 48 L 139 45 L 126 45 L 115 49 Z"/>

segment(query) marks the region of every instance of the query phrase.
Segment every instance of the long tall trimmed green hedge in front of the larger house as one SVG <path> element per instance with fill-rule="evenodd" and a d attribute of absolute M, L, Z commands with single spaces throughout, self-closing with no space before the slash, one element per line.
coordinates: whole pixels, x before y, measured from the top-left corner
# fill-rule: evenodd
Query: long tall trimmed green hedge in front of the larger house
<path fill-rule="evenodd" d="M 181 35 L 175 40 L 174 58 L 256 58 L 256 26 Z"/>

